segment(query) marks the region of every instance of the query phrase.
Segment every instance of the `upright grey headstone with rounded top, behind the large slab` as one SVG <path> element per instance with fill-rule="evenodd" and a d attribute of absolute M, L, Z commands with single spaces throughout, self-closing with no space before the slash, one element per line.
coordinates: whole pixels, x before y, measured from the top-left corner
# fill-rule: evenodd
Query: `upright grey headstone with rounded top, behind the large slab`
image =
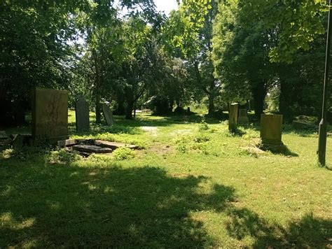
<path fill-rule="evenodd" d="M 81 98 L 75 103 L 76 131 L 88 131 L 90 129 L 89 104 Z"/>

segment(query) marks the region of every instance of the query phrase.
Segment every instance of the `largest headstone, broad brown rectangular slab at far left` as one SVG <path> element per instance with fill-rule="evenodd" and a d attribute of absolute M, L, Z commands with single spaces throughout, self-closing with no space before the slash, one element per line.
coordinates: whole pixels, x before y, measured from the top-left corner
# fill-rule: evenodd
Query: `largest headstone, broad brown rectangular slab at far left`
<path fill-rule="evenodd" d="M 32 136 L 68 138 L 68 92 L 36 88 L 32 105 Z"/>

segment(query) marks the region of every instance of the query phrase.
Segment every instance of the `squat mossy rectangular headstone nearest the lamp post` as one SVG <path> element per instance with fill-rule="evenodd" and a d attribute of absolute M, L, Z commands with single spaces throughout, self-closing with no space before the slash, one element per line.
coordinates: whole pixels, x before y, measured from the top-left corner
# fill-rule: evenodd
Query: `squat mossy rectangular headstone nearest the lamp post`
<path fill-rule="evenodd" d="M 282 145 L 282 115 L 261 115 L 262 143 Z"/>

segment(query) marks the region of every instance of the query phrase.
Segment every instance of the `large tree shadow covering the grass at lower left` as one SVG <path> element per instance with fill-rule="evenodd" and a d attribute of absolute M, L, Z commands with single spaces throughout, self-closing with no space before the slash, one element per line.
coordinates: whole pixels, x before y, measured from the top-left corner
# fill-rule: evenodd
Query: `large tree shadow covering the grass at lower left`
<path fill-rule="evenodd" d="M 191 212 L 223 211 L 234 194 L 224 185 L 201 194 L 205 177 L 151 166 L 13 162 L 0 159 L 0 248 L 202 248 L 214 239 Z"/>

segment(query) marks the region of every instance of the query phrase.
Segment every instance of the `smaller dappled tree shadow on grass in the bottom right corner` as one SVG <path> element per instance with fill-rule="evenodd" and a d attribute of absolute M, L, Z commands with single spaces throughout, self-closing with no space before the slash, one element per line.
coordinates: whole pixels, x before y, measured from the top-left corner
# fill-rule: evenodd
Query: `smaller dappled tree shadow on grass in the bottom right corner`
<path fill-rule="evenodd" d="M 329 248 L 332 243 L 332 220 L 314 218 L 311 213 L 286 228 L 269 225 L 247 208 L 230 209 L 229 217 L 228 234 L 238 240 L 254 237 L 253 248 Z"/>

